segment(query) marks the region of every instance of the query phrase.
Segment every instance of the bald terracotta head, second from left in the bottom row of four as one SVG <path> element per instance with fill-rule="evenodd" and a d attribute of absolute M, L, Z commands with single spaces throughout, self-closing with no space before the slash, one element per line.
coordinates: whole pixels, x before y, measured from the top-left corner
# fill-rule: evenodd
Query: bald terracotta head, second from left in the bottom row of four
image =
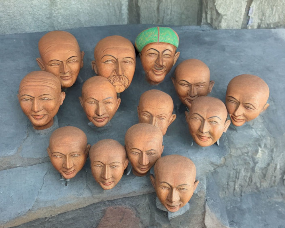
<path fill-rule="evenodd" d="M 113 139 L 103 139 L 90 148 L 91 172 L 104 190 L 114 188 L 129 164 L 125 148 Z"/>

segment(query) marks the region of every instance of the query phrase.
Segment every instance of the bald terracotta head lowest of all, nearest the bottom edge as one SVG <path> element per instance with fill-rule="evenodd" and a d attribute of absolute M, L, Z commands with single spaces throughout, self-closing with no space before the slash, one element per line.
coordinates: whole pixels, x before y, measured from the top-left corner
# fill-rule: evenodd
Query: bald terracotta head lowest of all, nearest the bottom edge
<path fill-rule="evenodd" d="M 194 163 L 178 154 L 159 158 L 150 176 L 159 201 L 170 212 L 178 211 L 191 199 L 199 181 Z"/>

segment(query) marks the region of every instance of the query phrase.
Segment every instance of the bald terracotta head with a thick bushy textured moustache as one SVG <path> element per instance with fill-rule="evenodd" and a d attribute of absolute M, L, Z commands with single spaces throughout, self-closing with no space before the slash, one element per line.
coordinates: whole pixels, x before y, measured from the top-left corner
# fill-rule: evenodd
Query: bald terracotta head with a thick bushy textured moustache
<path fill-rule="evenodd" d="M 136 68 L 135 48 L 131 41 L 122 36 L 107 36 L 95 46 L 94 58 L 93 70 L 107 78 L 117 93 L 129 87 Z"/>

